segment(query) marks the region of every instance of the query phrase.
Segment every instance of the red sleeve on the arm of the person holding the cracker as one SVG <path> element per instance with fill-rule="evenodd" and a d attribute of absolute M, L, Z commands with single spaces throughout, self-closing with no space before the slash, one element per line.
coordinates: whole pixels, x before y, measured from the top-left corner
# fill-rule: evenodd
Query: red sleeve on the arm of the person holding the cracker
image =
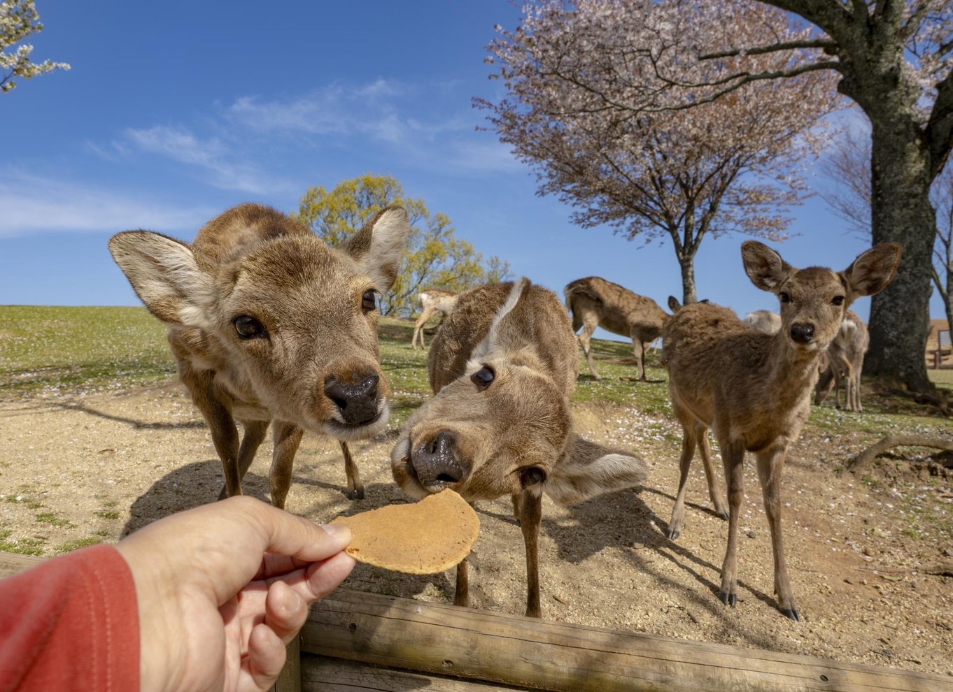
<path fill-rule="evenodd" d="M 112 545 L 0 581 L 0 692 L 137 689 L 135 588 Z"/>

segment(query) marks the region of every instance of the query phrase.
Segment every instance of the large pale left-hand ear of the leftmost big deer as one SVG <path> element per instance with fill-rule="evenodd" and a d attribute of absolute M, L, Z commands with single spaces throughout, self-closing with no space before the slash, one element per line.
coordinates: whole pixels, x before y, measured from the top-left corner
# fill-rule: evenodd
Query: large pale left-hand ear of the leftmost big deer
<path fill-rule="evenodd" d="M 172 325 L 211 325 L 205 306 L 213 302 L 213 279 L 195 263 L 192 247 L 147 230 L 116 233 L 109 246 L 112 259 L 153 315 Z"/>

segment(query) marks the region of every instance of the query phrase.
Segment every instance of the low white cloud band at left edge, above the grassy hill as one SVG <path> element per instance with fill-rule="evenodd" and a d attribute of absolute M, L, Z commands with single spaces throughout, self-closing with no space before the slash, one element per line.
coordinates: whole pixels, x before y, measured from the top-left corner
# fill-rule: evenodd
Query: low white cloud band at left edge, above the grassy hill
<path fill-rule="evenodd" d="M 0 169 L 0 238 L 45 231 L 148 228 L 191 237 L 212 218 L 206 208 L 168 207 L 66 180 Z"/>

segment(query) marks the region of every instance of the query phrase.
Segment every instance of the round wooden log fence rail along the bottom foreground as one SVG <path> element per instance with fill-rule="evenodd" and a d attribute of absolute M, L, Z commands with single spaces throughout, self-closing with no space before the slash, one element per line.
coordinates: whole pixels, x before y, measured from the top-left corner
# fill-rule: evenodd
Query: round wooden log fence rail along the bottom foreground
<path fill-rule="evenodd" d="M 39 562 L 0 553 L 0 576 Z M 289 659 L 275 692 L 953 690 L 953 680 L 940 675 L 340 588 L 312 606 L 300 651 Z"/>

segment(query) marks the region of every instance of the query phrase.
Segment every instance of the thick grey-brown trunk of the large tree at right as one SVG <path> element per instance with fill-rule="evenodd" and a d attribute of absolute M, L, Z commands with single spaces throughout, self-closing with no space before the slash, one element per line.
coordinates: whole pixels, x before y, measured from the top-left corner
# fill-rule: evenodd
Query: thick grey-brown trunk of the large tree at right
<path fill-rule="evenodd" d="M 924 350 L 932 290 L 930 266 L 936 217 L 930 206 L 929 159 L 912 118 L 871 114 L 871 230 L 877 243 L 895 242 L 903 256 L 893 283 L 870 306 L 870 350 L 863 371 L 928 391 Z"/>

